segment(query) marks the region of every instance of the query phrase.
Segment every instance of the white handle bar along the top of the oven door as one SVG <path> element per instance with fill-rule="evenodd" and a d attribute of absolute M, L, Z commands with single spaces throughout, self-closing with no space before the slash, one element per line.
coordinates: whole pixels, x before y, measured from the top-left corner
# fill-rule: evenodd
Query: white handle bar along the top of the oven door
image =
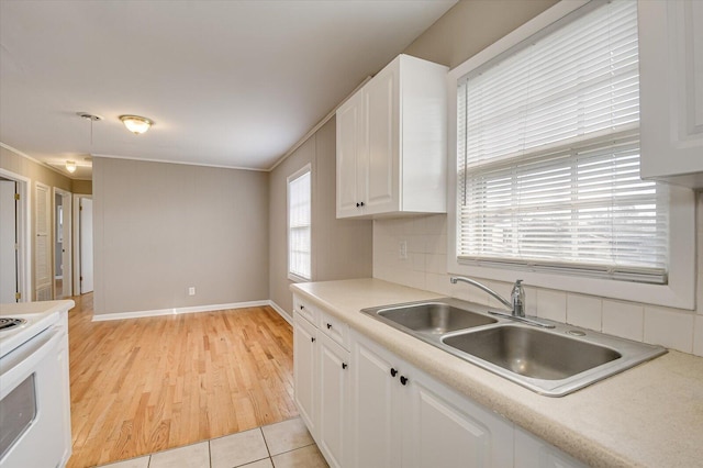
<path fill-rule="evenodd" d="M 29 377 L 64 338 L 62 328 L 52 327 L 31 338 L 0 359 L 0 399 Z"/>

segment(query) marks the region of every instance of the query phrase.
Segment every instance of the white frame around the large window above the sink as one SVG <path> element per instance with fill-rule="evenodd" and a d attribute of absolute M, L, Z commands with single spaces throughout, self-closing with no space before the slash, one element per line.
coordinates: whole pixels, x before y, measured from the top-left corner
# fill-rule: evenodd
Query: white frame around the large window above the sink
<path fill-rule="evenodd" d="M 466 275 L 506 282 L 523 279 L 526 286 L 693 310 L 695 308 L 696 285 L 696 256 L 692 255 L 695 253 L 695 197 L 692 190 L 682 187 L 671 186 L 670 188 L 670 232 L 674 234 L 669 237 L 669 281 L 667 285 L 466 265 L 457 258 L 457 239 L 460 229 L 457 219 L 459 215 L 457 209 L 457 86 L 459 80 L 487 62 L 528 40 L 534 34 L 550 27 L 555 22 L 588 3 L 588 0 L 559 2 L 448 73 L 448 160 L 453 170 L 448 171 L 447 271 L 451 275 Z M 601 2 L 599 1 L 599 3 Z"/>

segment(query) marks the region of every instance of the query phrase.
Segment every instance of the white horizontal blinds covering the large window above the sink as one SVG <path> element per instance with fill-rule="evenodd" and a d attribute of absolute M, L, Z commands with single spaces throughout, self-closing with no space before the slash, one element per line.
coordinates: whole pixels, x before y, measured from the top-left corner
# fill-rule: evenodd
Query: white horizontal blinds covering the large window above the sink
<path fill-rule="evenodd" d="M 565 20 L 459 81 L 457 254 L 666 282 L 666 189 L 639 179 L 636 2 Z"/>

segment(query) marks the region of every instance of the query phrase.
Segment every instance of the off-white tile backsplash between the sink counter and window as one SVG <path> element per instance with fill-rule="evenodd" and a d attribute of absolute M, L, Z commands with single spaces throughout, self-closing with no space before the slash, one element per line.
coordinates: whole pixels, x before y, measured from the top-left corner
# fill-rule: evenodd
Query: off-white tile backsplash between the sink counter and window
<path fill-rule="evenodd" d="M 406 258 L 401 258 L 401 242 Z M 698 298 L 703 294 L 703 193 L 696 196 Z M 459 299 L 501 307 L 478 288 L 450 285 L 447 215 L 373 221 L 373 277 Z M 481 280 L 480 278 L 477 278 Z M 512 283 L 481 280 L 503 297 Z M 669 309 L 527 286 L 527 314 L 703 356 L 703 307 Z"/>

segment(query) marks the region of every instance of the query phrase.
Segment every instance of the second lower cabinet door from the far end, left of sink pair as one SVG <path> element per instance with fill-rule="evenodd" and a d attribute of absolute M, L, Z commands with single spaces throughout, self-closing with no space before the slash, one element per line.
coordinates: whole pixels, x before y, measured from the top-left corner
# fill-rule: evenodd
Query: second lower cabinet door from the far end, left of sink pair
<path fill-rule="evenodd" d="M 333 467 L 346 467 L 349 353 L 322 335 L 320 339 L 319 446 Z"/>

